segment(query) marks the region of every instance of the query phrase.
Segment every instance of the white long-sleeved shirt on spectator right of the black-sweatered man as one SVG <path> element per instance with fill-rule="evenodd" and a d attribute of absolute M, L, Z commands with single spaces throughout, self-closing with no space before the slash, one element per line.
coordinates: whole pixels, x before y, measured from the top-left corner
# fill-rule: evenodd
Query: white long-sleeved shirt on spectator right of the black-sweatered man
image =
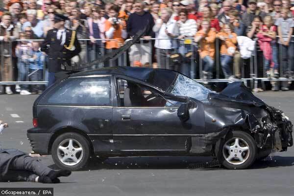
<path fill-rule="evenodd" d="M 156 25 L 153 26 L 153 31 L 155 32 L 155 38 L 161 38 L 163 40 L 155 40 L 155 48 L 158 49 L 174 49 L 176 48 L 176 39 L 171 40 L 171 37 L 168 36 L 165 32 L 172 33 L 173 35 L 179 35 L 179 28 L 176 24 L 176 21 L 170 18 L 170 20 L 165 24 L 163 23 L 161 27 L 158 24 L 161 23 L 161 19 L 156 20 Z"/>

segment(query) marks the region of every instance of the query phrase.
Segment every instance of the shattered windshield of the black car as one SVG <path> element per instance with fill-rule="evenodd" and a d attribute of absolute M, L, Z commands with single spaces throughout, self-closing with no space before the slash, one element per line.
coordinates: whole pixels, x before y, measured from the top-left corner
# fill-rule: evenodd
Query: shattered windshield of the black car
<path fill-rule="evenodd" d="M 178 74 L 169 92 L 176 96 L 186 96 L 197 100 L 205 100 L 207 99 L 208 93 L 212 91 L 193 79 L 182 74 Z"/>

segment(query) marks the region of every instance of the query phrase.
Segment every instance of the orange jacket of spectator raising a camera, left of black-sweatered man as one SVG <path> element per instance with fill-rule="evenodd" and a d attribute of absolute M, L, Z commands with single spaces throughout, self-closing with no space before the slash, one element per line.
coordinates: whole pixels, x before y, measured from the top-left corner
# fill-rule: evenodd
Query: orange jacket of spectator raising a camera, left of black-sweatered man
<path fill-rule="evenodd" d="M 122 38 L 122 29 L 123 29 L 123 26 L 125 26 L 125 21 L 122 21 L 123 25 L 119 25 L 119 28 L 114 30 L 113 32 L 113 37 L 112 38 L 109 38 L 109 39 L 115 39 L 117 41 L 114 41 L 114 40 L 109 40 L 109 41 L 106 41 L 106 46 L 105 48 L 106 49 L 113 49 L 113 48 L 120 48 L 122 45 L 123 45 L 123 38 Z M 105 21 L 105 32 L 108 31 L 111 27 L 111 23 L 106 20 Z"/>

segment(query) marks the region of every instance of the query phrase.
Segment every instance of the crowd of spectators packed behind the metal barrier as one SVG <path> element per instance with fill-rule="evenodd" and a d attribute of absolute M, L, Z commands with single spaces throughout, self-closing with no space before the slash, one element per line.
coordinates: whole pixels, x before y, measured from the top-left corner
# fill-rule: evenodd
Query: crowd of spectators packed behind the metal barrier
<path fill-rule="evenodd" d="M 206 81 L 213 77 L 219 51 L 223 76 L 233 80 L 241 77 L 240 59 L 245 54 L 238 37 L 245 36 L 257 41 L 263 55 L 263 65 L 259 63 L 258 69 L 264 70 L 267 77 L 292 77 L 293 6 L 294 0 L 3 0 L 0 80 L 46 79 L 42 66 L 46 64 L 46 55 L 39 52 L 38 39 L 44 39 L 54 28 L 54 13 L 69 18 L 66 28 L 75 30 L 79 40 L 89 39 L 80 41 L 82 51 L 72 59 L 73 64 L 89 62 L 119 49 L 126 39 L 146 28 L 144 41 L 130 47 L 127 59 L 121 56 L 120 61 L 110 60 L 103 66 L 118 66 L 118 62 L 127 61 L 130 66 L 174 69 L 188 76 L 193 76 L 193 67 L 194 71 L 201 70 Z M 17 39 L 31 41 L 12 42 Z M 176 64 L 173 57 L 179 55 L 180 63 Z M 279 58 L 283 73 L 279 73 Z M 42 86 L 16 86 L 21 95 L 42 90 Z M 282 90 L 288 87 L 283 86 Z M 1 92 L 13 93 L 10 85 L 5 89 L 0 85 Z"/>

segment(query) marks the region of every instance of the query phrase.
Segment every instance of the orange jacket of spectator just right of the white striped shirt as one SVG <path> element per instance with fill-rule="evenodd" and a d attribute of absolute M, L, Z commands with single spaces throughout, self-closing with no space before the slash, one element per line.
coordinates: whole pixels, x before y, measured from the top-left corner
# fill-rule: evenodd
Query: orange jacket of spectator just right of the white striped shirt
<path fill-rule="evenodd" d="M 212 59 L 215 58 L 215 52 L 216 52 L 216 32 L 210 30 L 206 35 L 204 34 L 203 30 L 199 30 L 195 37 L 197 36 L 204 36 L 205 38 L 202 38 L 199 41 L 199 53 L 200 53 L 200 57 L 204 58 L 205 56 L 209 55 Z"/>

